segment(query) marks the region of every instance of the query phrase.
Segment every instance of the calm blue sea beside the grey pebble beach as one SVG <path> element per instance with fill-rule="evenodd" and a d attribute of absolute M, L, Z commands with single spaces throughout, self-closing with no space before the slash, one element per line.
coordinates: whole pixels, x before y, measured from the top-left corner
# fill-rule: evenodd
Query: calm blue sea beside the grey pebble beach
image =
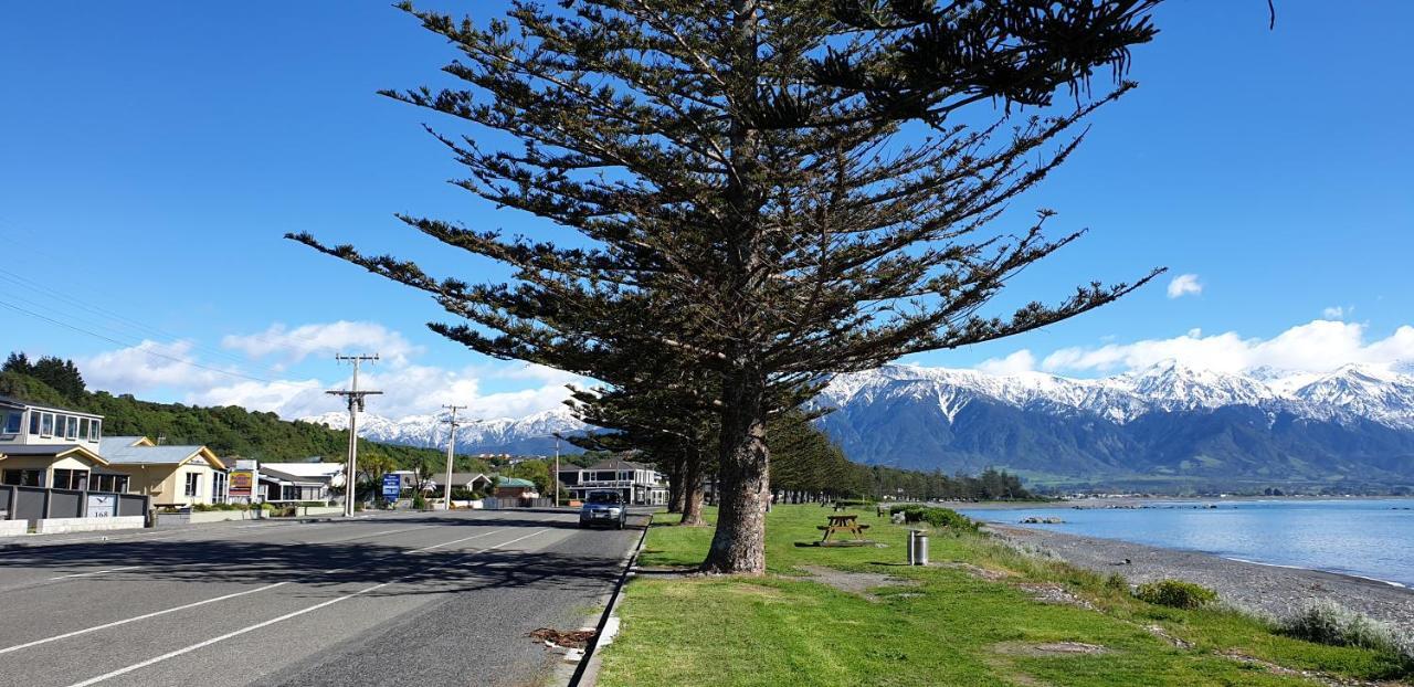
<path fill-rule="evenodd" d="M 1226 558 L 1324 570 L 1414 587 L 1414 499 L 1145 502 L 1140 509 L 957 509 L 983 522 L 1186 548 Z M 1209 507 L 1217 506 L 1217 507 Z"/>

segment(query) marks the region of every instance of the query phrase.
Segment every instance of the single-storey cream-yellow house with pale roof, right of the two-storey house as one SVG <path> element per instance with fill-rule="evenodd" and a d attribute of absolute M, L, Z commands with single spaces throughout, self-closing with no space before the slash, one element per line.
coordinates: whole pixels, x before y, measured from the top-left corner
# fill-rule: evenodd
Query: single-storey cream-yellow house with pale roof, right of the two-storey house
<path fill-rule="evenodd" d="M 225 503 L 226 465 L 206 447 L 157 445 L 147 437 L 105 437 L 99 455 L 127 475 L 129 493 L 151 496 L 154 507 Z"/>

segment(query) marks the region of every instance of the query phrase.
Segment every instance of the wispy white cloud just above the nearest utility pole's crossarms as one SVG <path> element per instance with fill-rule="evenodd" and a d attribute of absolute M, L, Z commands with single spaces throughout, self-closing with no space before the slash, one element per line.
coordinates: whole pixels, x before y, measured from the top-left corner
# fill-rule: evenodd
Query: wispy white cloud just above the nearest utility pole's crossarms
<path fill-rule="evenodd" d="M 225 348 L 242 351 L 252 358 L 276 356 L 296 363 L 311 355 L 332 356 L 334 353 L 378 353 L 382 359 L 402 366 L 409 356 L 420 353 L 421 348 L 410 344 L 402 334 L 378 322 L 321 322 L 307 324 L 294 329 L 273 324 L 260 334 L 228 335 L 221 339 Z"/>

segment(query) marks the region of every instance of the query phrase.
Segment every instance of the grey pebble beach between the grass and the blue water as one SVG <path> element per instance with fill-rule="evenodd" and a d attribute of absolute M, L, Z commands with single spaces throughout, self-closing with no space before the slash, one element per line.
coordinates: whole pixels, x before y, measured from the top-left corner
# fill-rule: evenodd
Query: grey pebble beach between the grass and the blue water
<path fill-rule="evenodd" d="M 1292 615 L 1315 601 L 1333 601 L 1414 632 L 1414 589 L 1400 582 L 1012 524 L 983 527 L 1072 565 L 1103 575 L 1118 572 L 1130 584 L 1186 580 L 1216 589 L 1227 604 L 1273 616 Z"/>

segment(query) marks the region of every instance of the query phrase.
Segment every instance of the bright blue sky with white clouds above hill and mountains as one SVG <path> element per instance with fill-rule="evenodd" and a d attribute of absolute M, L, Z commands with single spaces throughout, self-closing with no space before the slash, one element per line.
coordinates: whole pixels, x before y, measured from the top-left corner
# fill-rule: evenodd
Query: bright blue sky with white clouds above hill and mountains
<path fill-rule="evenodd" d="M 1005 218 L 1021 228 L 1045 206 L 1056 230 L 1090 229 L 1011 300 L 1167 266 L 1161 283 L 909 362 L 1086 376 L 1155 358 L 1414 358 L 1414 3 L 1277 10 L 1268 31 L 1260 0 L 1161 8 L 1161 35 L 1134 55 L 1141 88 Z M 62 324 L 0 307 L 0 353 L 75 358 L 115 392 L 304 414 L 334 407 L 318 392 L 346 373 L 335 349 L 380 349 L 389 414 L 554 406 L 563 375 L 445 342 L 424 328 L 441 315 L 428 300 L 281 239 L 308 230 L 475 278 L 496 273 L 392 213 L 537 230 L 445 184 L 458 168 L 420 127 L 438 120 L 375 95 L 438 83 L 452 57 L 406 16 L 385 1 L 8 3 L 4 18 L 0 303 Z"/>

